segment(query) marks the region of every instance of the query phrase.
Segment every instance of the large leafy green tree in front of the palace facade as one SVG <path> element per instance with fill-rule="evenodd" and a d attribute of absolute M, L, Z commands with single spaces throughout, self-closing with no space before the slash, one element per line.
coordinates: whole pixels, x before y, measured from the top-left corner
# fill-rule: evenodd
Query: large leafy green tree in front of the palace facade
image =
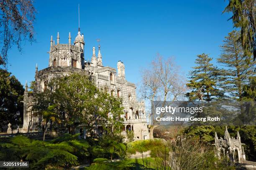
<path fill-rule="evenodd" d="M 112 97 L 104 90 L 98 89 L 92 80 L 79 74 L 55 78 L 49 83 L 51 90 L 36 93 L 33 110 L 43 112 L 50 105 L 56 105 L 51 112 L 57 114 L 61 123 L 59 129 L 73 134 L 79 126 L 85 126 L 87 133 L 95 136 L 95 128 L 103 130 L 121 129 L 123 107 L 118 98 Z"/>

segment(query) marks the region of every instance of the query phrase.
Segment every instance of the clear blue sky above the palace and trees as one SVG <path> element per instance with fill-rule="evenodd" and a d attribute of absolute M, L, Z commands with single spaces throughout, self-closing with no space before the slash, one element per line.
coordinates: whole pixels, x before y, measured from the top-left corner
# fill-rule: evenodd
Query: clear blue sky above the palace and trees
<path fill-rule="evenodd" d="M 92 56 L 92 47 L 100 38 L 104 66 L 125 64 L 128 81 L 138 83 L 139 72 L 157 53 L 174 56 L 187 75 L 197 54 L 207 53 L 216 58 L 220 45 L 233 30 L 230 14 L 222 14 L 228 1 L 224 0 L 36 0 L 36 43 L 23 44 L 22 53 L 13 47 L 9 52 L 8 71 L 24 85 L 34 80 L 38 70 L 48 67 L 50 37 L 60 43 L 72 42 L 78 29 L 85 38 L 85 60 Z"/>

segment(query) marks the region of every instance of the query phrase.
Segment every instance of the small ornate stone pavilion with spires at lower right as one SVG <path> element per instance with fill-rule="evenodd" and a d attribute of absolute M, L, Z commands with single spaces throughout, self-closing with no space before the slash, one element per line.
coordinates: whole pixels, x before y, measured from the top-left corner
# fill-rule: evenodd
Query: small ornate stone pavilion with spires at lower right
<path fill-rule="evenodd" d="M 237 132 L 237 137 L 230 138 L 228 128 L 226 127 L 224 139 L 220 137 L 218 139 L 217 133 L 215 132 L 215 147 L 216 155 L 220 159 L 221 157 L 227 158 L 232 162 L 243 163 L 246 160 L 246 156 L 243 150 L 243 143 L 241 143 L 241 137 Z"/>

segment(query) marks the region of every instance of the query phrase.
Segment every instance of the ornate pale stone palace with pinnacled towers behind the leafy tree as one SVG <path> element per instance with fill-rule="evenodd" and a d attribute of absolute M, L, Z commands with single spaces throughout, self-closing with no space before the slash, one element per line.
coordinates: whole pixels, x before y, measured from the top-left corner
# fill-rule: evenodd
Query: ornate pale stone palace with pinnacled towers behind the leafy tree
<path fill-rule="evenodd" d="M 78 31 L 74 44 L 71 44 L 71 35 L 69 32 L 69 44 L 60 44 L 59 32 L 57 35 L 57 44 L 50 40 L 49 65 L 47 68 L 38 71 L 36 66 L 35 89 L 36 92 L 43 92 L 48 87 L 48 83 L 55 77 L 69 75 L 73 72 L 90 76 L 95 85 L 102 90 L 108 90 L 110 95 L 122 97 L 125 114 L 123 135 L 126 130 L 134 131 L 135 140 L 149 139 L 147 128 L 146 112 L 144 102 L 138 102 L 136 99 L 136 86 L 125 79 L 125 65 L 118 61 L 116 71 L 113 67 L 103 66 L 100 45 L 96 57 L 95 47 L 92 48 L 91 62 L 84 60 L 84 35 Z M 51 90 L 51 89 L 50 89 Z M 39 117 L 33 116 L 32 96 L 28 96 L 28 87 L 24 93 L 24 115 L 23 132 L 36 131 L 36 123 Z"/>

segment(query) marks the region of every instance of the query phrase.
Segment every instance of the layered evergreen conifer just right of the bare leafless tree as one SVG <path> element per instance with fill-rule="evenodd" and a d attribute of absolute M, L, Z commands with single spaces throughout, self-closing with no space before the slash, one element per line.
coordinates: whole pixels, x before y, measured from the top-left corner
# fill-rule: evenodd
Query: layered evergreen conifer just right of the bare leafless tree
<path fill-rule="evenodd" d="M 210 63 L 212 60 L 207 54 L 197 55 L 192 67 L 194 70 L 189 72 L 189 87 L 192 91 L 187 93 L 189 100 L 217 100 L 220 97 L 220 90 L 216 88 L 217 68 Z"/>

